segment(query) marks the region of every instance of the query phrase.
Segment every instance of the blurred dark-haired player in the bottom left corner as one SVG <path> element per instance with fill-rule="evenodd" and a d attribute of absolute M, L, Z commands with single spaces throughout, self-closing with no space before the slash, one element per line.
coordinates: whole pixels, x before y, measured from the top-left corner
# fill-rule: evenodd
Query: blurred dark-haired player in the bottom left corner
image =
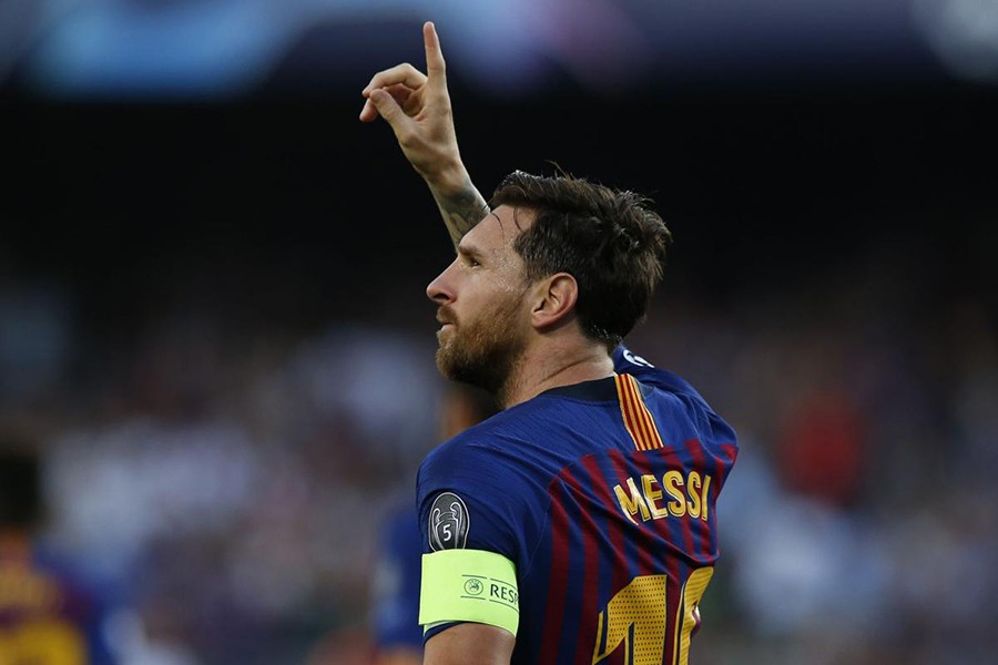
<path fill-rule="evenodd" d="M 0 432 L 0 664 L 110 665 L 102 598 L 35 540 L 41 463 L 20 439 Z"/>

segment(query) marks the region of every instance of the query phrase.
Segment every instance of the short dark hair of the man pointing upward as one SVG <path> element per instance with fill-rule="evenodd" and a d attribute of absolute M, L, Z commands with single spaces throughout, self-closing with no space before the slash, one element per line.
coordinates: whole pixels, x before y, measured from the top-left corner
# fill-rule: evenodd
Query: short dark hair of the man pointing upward
<path fill-rule="evenodd" d="M 533 224 L 513 244 L 527 264 L 527 278 L 562 272 L 574 277 L 582 332 L 611 350 L 648 313 L 672 242 L 651 203 L 585 178 L 522 171 L 506 176 L 490 202 L 493 208 L 534 213 Z"/>

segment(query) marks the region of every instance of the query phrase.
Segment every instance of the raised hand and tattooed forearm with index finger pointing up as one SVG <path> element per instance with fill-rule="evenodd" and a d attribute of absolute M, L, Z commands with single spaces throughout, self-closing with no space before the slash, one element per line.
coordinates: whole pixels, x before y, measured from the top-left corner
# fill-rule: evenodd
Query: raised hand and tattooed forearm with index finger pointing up
<path fill-rule="evenodd" d="M 426 74 L 409 63 L 378 72 L 364 89 L 361 122 L 384 117 L 398 145 L 434 195 L 455 247 L 489 207 L 461 162 L 440 39 L 422 25 Z"/>

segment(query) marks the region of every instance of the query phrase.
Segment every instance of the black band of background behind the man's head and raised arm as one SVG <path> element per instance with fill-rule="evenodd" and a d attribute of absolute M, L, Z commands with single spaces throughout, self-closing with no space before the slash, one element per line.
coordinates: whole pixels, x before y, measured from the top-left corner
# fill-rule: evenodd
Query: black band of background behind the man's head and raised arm
<path fill-rule="evenodd" d="M 987 277 L 991 89 L 609 100 L 566 90 L 503 103 L 452 86 L 462 153 L 483 192 L 513 168 L 550 173 L 557 163 L 646 194 L 675 235 L 673 275 L 704 297 L 821 270 L 872 245 L 930 247 L 924 269 L 966 284 Z M 359 94 L 289 96 L 7 99 L 4 272 L 54 274 L 89 306 L 141 311 L 184 287 L 171 279 L 181 270 L 196 290 L 238 291 L 249 301 L 234 306 L 276 317 L 299 314 L 275 279 L 353 314 L 367 306 L 338 297 L 346 282 L 378 290 L 416 286 L 398 284 L 399 272 L 429 279 L 449 247 L 389 129 L 357 121 Z"/>

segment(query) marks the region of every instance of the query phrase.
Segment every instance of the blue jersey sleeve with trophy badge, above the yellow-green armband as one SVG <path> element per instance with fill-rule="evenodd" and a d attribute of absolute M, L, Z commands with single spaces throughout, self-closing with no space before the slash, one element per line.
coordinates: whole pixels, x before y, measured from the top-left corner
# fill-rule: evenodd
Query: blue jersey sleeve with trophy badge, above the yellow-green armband
<path fill-rule="evenodd" d="M 542 512 L 543 507 L 531 504 L 528 479 L 503 457 L 501 448 L 466 434 L 430 453 L 419 470 L 417 503 L 422 551 L 498 554 L 518 572 L 529 559 L 527 515 Z M 424 640 L 456 623 L 461 622 L 428 627 Z"/>

